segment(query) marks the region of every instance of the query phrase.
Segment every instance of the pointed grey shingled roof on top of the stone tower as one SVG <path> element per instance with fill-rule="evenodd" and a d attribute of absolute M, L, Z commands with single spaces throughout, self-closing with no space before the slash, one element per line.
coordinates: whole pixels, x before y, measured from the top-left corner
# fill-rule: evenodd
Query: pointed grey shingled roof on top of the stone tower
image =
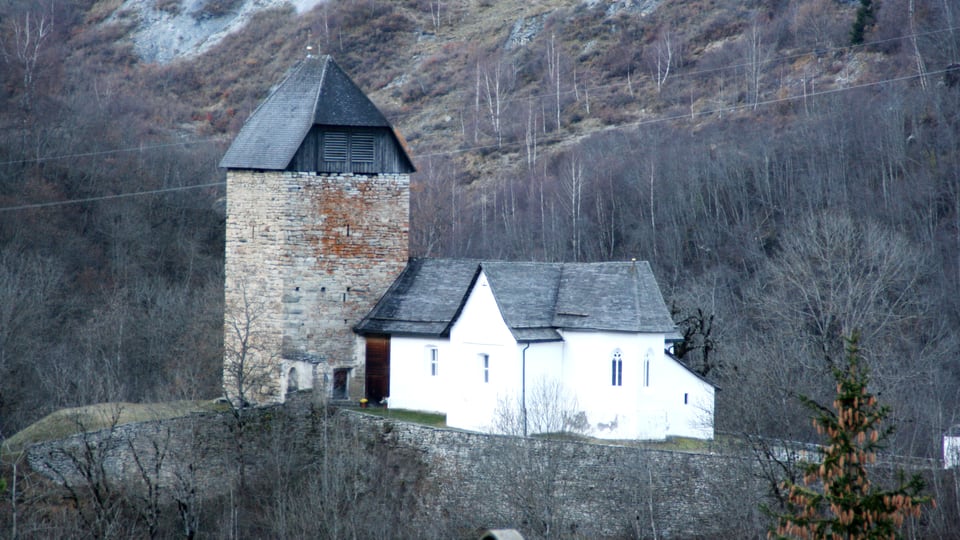
<path fill-rule="evenodd" d="M 283 170 L 315 124 L 391 127 L 330 56 L 309 56 L 253 111 L 220 166 Z"/>

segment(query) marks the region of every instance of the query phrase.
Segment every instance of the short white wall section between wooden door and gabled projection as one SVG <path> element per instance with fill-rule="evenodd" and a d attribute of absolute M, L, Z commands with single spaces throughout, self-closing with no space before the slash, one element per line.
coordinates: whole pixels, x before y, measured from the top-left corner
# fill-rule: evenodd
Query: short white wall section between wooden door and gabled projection
<path fill-rule="evenodd" d="M 439 355 L 436 376 L 431 375 L 428 347 L 436 347 Z M 390 339 L 390 408 L 446 413 L 452 368 L 448 339 L 394 336 Z"/>

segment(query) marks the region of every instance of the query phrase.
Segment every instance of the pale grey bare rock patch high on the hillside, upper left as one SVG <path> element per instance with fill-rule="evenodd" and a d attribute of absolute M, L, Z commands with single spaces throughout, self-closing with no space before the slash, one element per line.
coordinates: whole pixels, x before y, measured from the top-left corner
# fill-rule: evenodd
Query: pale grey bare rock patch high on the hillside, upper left
<path fill-rule="evenodd" d="M 267 9 L 313 9 L 324 0 L 125 0 L 102 24 L 132 26 L 134 49 L 165 64 L 200 54 Z"/>

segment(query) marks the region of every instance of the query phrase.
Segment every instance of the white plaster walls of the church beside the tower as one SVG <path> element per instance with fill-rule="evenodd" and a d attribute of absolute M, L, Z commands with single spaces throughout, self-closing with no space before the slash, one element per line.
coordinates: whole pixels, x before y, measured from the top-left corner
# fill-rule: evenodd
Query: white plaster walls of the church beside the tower
<path fill-rule="evenodd" d="M 394 338 L 391 406 L 445 411 L 451 427 L 499 431 L 498 409 L 516 407 L 522 395 L 526 348 L 528 412 L 537 386 L 555 384 L 564 389 L 564 407 L 575 406 L 586 413 L 590 436 L 713 437 L 714 388 L 664 353 L 663 334 L 566 331 L 563 338 L 529 347 L 517 343 L 481 273 L 451 329 L 449 350 L 441 351 L 441 376 L 436 381 L 424 380 L 429 376 L 425 347 L 430 340 Z M 623 360 L 620 386 L 612 384 L 611 361 L 617 349 Z M 487 381 L 483 354 L 490 361 Z M 648 355 L 649 385 L 645 386 Z M 431 388 L 437 388 L 435 394 Z M 446 407 L 432 401 L 434 395 Z"/>

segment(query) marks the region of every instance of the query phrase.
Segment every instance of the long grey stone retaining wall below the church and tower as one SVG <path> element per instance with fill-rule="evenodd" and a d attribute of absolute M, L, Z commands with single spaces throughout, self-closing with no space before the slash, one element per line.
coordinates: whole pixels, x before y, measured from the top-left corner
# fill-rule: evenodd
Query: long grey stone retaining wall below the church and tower
<path fill-rule="evenodd" d="M 328 417 L 329 410 L 310 405 L 310 393 L 298 396 L 247 411 L 249 483 L 273 478 L 277 462 L 316 471 L 331 441 L 339 441 L 347 455 L 379 467 L 371 477 L 381 484 L 367 496 L 415 490 L 429 511 L 411 519 L 534 528 L 546 537 L 550 527 L 583 538 L 749 537 L 766 523 L 759 511 L 766 486 L 752 457 L 490 436 L 350 411 Z M 85 465 L 92 457 L 109 482 L 143 490 L 139 462 L 159 471 L 154 483 L 164 493 L 213 497 L 236 481 L 234 429 L 229 413 L 128 424 L 34 445 L 28 462 L 57 482 L 82 486 L 89 471 L 101 470 Z"/>

